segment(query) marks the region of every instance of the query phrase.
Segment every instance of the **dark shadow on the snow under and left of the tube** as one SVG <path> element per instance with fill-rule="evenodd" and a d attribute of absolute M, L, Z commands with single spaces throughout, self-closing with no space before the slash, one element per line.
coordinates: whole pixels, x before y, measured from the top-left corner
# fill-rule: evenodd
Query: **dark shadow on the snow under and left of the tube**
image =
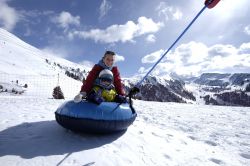
<path fill-rule="evenodd" d="M 0 157 L 16 155 L 29 159 L 84 151 L 111 143 L 125 132 L 77 134 L 63 129 L 56 121 L 22 123 L 0 131 Z"/>

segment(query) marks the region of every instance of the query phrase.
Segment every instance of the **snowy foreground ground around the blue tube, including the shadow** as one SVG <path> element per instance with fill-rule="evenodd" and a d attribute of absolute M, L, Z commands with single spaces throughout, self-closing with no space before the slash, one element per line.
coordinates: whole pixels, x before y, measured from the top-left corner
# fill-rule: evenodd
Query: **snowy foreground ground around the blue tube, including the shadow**
<path fill-rule="evenodd" d="M 59 126 L 64 100 L 0 96 L 1 165 L 250 165 L 250 109 L 135 101 L 127 131 L 77 134 Z"/>

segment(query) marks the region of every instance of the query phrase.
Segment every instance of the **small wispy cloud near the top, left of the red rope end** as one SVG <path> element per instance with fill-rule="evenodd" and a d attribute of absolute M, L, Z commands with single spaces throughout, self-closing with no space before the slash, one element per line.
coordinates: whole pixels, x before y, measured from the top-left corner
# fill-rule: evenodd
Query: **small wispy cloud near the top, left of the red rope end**
<path fill-rule="evenodd" d="M 168 20 L 180 20 L 182 18 L 182 12 L 180 9 L 168 6 L 166 2 L 160 2 L 160 4 L 156 7 L 156 11 L 159 16 L 163 16 L 166 21 Z"/>

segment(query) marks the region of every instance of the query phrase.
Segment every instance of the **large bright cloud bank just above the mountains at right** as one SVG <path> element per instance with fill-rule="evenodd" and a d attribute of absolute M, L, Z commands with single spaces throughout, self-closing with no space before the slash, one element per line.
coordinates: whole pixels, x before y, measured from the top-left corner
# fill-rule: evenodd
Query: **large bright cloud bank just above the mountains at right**
<path fill-rule="evenodd" d="M 157 56 L 153 56 L 154 53 L 146 55 L 142 59 L 143 63 L 155 62 Z M 203 43 L 190 42 L 180 45 L 166 55 L 166 58 L 167 61 L 156 66 L 153 74 L 175 72 L 179 75 L 194 76 L 204 72 L 249 72 L 250 43 L 243 43 L 236 48 L 222 44 L 208 47 Z M 143 67 L 142 69 L 140 72 L 148 70 Z"/>

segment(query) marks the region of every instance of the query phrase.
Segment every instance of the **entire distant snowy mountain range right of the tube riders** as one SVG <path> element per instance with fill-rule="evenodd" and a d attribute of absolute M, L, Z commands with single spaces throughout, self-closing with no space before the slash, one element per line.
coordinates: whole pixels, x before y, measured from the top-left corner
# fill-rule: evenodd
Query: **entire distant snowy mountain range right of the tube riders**
<path fill-rule="evenodd" d="M 140 79 L 125 79 L 127 89 Z M 249 73 L 204 73 L 192 79 L 149 76 L 140 90 L 137 98 L 146 101 L 250 106 Z"/>

